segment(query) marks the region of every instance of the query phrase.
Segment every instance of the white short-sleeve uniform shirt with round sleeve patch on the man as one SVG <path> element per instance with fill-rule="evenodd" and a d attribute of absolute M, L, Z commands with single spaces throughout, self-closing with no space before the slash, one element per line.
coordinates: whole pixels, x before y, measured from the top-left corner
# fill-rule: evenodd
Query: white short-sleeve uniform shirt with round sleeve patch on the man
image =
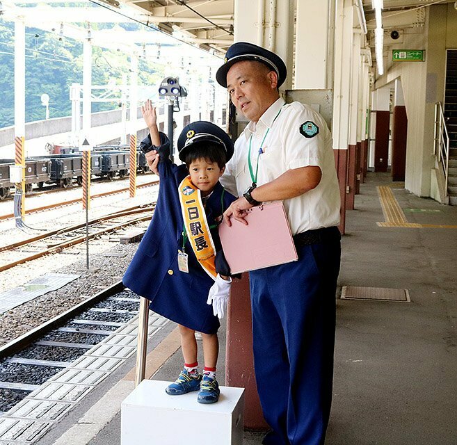
<path fill-rule="evenodd" d="M 249 146 L 254 176 L 258 162 L 258 186 L 290 169 L 308 165 L 321 168 L 322 177 L 316 188 L 283 201 L 292 234 L 339 224 L 340 196 L 332 135 L 319 113 L 300 102 L 285 104 L 280 98 L 257 123 L 249 122 L 236 140 L 234 155 L 221 177 L 222 185 L 234 195 L 243 195 L 252 185 Z"/>

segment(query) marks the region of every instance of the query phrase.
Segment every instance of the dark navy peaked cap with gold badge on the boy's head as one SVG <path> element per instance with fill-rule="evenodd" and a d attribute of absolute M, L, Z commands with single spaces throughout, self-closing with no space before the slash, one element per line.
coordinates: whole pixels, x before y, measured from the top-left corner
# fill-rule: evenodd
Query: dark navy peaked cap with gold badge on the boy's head
<path fill-rule="evenodd" d="M 227 162 L 233 155 L 232 139 L 221 127 L 205 120 L 191 122 L 182 129 L 177 141 L 178 155 L 181 161 L 185 161 L 186 153 L 189 152 L 195 143 L 211 142 L 219 145 L 225 152 Z"/>

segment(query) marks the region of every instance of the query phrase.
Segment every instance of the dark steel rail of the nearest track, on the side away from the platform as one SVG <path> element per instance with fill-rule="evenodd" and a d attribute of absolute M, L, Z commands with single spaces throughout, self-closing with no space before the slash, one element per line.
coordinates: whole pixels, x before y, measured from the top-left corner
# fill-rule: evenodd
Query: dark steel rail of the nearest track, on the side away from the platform
<path fill-rule="evenodd" d="M 70 318 L 73 318 L 77 314 L 80 314 L 89 307 L 95 305 L 95 303 L 104 300 L 104 298 L 108 298 L 124 289 L 125 286 L 124 284 L 122 284 L 122 281 L 116 282 L 112 286 L 103 289 L 103 291 L 96 293 L 87 300 L 80 302 L 78 305 L 75 305 L 74 307 L 67 309 L 67 311 L 63 312 L 62 314 L 59 314 L 54 318 L 51 318 L 51 320 L 42 323 L 42 325 L 34 327 L 29 332 L 26 332 L 25 334 L 22 334 L 21 336 L 17 337 L 17 339 L 9 341 L 3 346 L 0 346 L 0 359 L 17 353 L 17 351 L 24 349 L 26 346 L 29 346 L 30 343 L 33 343 L 33 341 L 35 341 L 36 339 L 42 337 L 49 331 L 62 325 Z"/>

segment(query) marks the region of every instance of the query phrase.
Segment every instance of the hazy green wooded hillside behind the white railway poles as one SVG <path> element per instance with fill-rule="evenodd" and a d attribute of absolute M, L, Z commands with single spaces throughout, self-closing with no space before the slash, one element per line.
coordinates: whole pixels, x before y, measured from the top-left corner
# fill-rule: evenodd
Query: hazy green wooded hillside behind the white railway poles
<path fill-rule="evenodd" d="M 106 25 L 105 25 L 106 26 Z M 129 24 L 131 29 L 137 24 Z M 141 26 L 141 25 L 140 25 Z M 93 29 L 97 29 L 93 26 Z M 157 86 L 163 78 L 164 66 L 138 61 L 138 85 Z M 120 51 L 93 47 L 93 85 L 109 81 L 122 83 L 122 74 L 129 73 L 129 57 Z M 49 117 L 71 115 L 70 86 L 83 81 L 83 44 L 58 33 L 26 28 L 26 122 L 45 119 L 40 96 L 47 93 Z M 0 128 L 14 124 L 14 23 L 0 19 Z M 117 108 L 117 103 L 93 103 L 92 111 Z"/>

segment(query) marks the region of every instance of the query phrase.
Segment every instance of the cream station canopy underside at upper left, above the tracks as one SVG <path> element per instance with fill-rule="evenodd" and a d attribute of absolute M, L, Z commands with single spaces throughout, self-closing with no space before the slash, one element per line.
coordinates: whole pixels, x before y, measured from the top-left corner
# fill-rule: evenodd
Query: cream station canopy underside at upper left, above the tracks
<path fill-rule="evenodd" d="M 221 58 L 233 42 L 233 0 L 0 0 L 0 19 L 20 19 L 62 38 L 90 38 L 99 47 L 138 55 L 152 45 L 163 49 L 180 40 Z M 117 26 L 125 23 L 138 26 Z"/>

